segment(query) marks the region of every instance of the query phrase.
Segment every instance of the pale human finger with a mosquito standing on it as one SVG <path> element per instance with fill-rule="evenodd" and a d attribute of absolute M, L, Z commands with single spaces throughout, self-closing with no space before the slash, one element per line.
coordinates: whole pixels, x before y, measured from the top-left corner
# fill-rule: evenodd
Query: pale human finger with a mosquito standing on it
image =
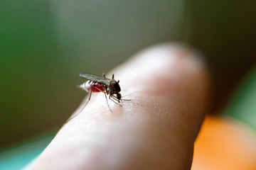
<path fill-rule="evenodd" d="M 190 169 L 208 96 L 206 67 L 193 50 L 164 44 L 112 70 L 122 107 L 92 93 L 33 169 Z"/>

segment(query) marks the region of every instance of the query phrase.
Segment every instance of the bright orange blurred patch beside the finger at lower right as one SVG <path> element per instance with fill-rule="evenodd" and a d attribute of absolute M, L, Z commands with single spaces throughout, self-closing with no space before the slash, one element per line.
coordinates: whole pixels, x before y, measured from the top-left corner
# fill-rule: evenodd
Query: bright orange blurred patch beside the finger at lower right
<path fill-rule="evenodd" d="M 255 170 L 256 140 L 248 130 L 231 118 L 206 118 L 195 142 L 191 169 Z"/>

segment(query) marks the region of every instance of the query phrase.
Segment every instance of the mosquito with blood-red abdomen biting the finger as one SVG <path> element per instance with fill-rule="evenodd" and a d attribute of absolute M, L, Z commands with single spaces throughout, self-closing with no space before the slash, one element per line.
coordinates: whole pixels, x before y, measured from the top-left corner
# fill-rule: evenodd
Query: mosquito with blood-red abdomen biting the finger
<path fill-rule="evenodd" d="M 87 81 L 84 84 L 78 85 L 78 87 L 81 89 L 84 89 L 85 91 L 90 93 L 90 96 L 89 96 L 88 100 L 86 101 L 85 106 L 90 101 L 92 92 L 104 93 L 106 101 L 107 101 L 107 95 L 109 95 L 110 100 L 121 107 L 122 107 L 122 105 L 119 104 L 120 101 L 122 101 L 122 100 L 130 101 L 127 99 L 122 99 L 122 95 L 119 93 L 121 91 L 121 88 L 119 86 L 119 80 L 116 81 L 114 79 L 114 74 L 112 75 L 112 79 L 108 79 L 104 73 L 102 74 L 102 77 L 97 76 L 95 74 L 81 73 L 80 77 L 87 79 Z M 79 113 L 82 112 L 82 110 L 85 108 L 85 106 L 82 107 L 82 109 Z M 107 101 L 107 106 L 108 106 L 108 108 L 110 108 L 108 101 Z M 110 111 L 112 111 L 111 108 L 110 108 Z M 68 121 L 75 118 L 75 116 L 78 114 L 71 116 L 65 123 L 68 123 Z"/>

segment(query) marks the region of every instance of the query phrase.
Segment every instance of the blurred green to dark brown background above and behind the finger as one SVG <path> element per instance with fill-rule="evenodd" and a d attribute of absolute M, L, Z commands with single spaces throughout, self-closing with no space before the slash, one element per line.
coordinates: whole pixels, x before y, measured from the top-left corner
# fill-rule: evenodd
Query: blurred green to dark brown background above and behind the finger
<path fill-rule="evenodd" d="M 102 74 L 158 42 L 206 56 L 213 109 L 255 64 L 255 1 L 1 1 L 0 147 L 60 128 Z"/>

